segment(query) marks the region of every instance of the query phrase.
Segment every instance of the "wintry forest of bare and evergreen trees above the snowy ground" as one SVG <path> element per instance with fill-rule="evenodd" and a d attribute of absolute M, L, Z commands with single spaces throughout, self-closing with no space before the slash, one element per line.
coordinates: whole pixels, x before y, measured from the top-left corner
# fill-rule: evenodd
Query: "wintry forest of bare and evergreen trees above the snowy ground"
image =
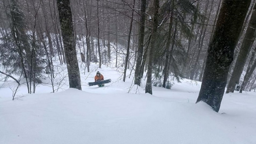
<path fill-rule="evenodd" d="M 215 111 L 225 87 L 255 91 L 255 0 L 0 3 L 0 73 L 18 84 L 14 96 L 21 85 L 36 93 L 46 77 L 52 92 L 67 77 L 69 87 L 81 90 L 79 69 L 90 73 L 92 63 L 122 67 L 123 81 L 132 74 L 138 86 L 144 75 L 150 94 L 152 86 L 171 89 L 181 79 L 202 82 L 197 102 Z M 68 75 L 59 76 L 66 68 Z"/>

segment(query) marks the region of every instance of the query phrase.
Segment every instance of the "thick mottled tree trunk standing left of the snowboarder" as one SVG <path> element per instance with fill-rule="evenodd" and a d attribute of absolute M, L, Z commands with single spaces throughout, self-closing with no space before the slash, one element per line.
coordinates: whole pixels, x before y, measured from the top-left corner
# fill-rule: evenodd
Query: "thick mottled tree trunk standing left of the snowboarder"
<path fill-rule="evenodd" d="M 57 0 L 60 27 L 63 37 L 65 56 L 67 59 L 69 87 L 82 90 L 80 71 L 76 57 L 76 43 L 72 25 L 72 13 L 69 0 Z"/>

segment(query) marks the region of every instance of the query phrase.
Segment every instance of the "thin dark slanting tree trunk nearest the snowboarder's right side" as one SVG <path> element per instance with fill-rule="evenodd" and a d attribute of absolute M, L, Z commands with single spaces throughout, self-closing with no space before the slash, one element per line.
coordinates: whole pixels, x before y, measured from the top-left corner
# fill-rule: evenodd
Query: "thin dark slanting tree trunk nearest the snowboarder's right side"
<path fill-rule="evenodd" d="M 132 5 L 132 9 L 134 9 L 135 6 L 135 0 L 133 0 L 133 5 Z M 131 16 L 131 22 L 130 22 L 130 29 L 129 29 L 129 35 L 128 35 L 128 45 L 127 45 L 127 52 L 126 52 L 126 57 L 125 57 L 125 66 L 124 66 L 124 78 L 123 81 L 125 82 L 125 78 L 126 78 L 126 71 L 127 71 L 127 65 L 128 65 L 128 61 L 129 61 L 129 50 L 130 50 L 130 41 L 131 41 L 131 33 L 132 33 L 132 22 L 133 22 L 133 13 L 134 11 L 132 10 L 132 16 Z"/>

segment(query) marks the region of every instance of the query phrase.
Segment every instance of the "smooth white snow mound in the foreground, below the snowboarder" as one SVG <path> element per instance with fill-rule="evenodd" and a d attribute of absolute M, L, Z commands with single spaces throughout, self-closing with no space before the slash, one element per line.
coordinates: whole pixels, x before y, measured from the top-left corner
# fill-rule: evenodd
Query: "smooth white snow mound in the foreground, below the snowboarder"
<path fill-rule="evenodd" d="M 0 144 L 256 143 L 255 121 L 241 113 L 216 113 L 206 103 L 166 97 L 69 88 L 0 101 Z"/>

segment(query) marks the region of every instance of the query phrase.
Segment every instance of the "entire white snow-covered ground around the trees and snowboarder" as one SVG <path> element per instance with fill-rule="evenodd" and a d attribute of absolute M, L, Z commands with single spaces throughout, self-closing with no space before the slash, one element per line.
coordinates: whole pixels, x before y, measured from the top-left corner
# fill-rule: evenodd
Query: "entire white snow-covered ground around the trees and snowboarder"
<path fill-rule="evenodd" d="M 5 82 L 0 144 L 256 144 L 255 92 L 224 94 L 216 113 L 206 103 L 195 104 L 200 82 L 184 79 L 171 90 L 153 87 L 153 95 L 144 94 L 144 78 L 142 87 L 133 86 L 132 71 L 123 82 L 123 68 L 114 62 L 101 69 L 91 63 L 90 73 L 79 62 L 82 91 L 68 88 L 61 67 L 55 69 L 55 93 L 47 78 L 36 94 L 22 85 L 12 101 L 16 83 Z M 97 71 L 112 83 L 89 87 Z"/>

